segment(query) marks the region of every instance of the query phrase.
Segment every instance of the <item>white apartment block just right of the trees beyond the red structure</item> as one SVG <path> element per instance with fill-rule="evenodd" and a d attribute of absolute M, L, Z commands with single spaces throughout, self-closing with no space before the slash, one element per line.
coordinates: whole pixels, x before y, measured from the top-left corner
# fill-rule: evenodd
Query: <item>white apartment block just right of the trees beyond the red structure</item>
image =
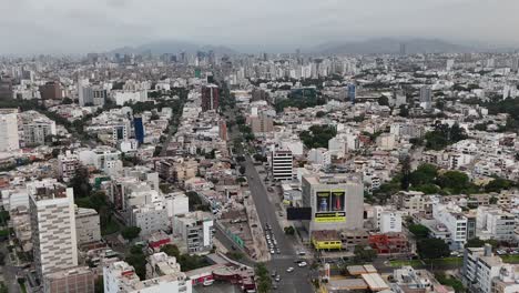
<path fill-rule="evenodd" d="M 432 218 L 447 228 L 450 233 L 448 244 L 452 250 L 464 247 L 467 242 L 467 216 L 459 206 L 448 206 L 440 203 L 432 204 Z"/>

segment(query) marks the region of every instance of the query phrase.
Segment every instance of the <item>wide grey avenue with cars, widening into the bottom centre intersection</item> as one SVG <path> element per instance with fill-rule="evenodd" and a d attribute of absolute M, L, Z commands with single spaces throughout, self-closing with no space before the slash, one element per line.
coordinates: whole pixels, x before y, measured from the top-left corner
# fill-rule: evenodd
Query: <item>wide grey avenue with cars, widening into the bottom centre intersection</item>
<path fill-rule="evenodd" d="M 268 223 L 272 226 L 272 232 L 277 240 L 277 246 L 281 250 L 281 254 L 274 254 L 272 260 L 267 263 L 271 271 L 276 270 L 281 274 L 281 282 L 278 283 L 278 292 L 297 292 L 297 293 L 311 293 L 314 292 L 312 284 L 308 282 L 309 270 L 308 267 L 298 267 L 294 263 L 298 256 L 294 250 L 292 240 L 287 239 L 283 228 L 276 219 L 275 206 L 268 200 L 268 193 L 266 192 L 265 185 L 263 184 L 260 174 L 254 168 L 254 163 L 251 156 L 245 156 L 243 163 L 246 168 L 245 175 L 248 180 L 248 188 L 256 205 L 256 211 L 262 221 L 263 225 Z M 276 196 L 272 194 L 272 196 Z M 287 273 L 286 269 L 293 266 L 295 271 Z"/>

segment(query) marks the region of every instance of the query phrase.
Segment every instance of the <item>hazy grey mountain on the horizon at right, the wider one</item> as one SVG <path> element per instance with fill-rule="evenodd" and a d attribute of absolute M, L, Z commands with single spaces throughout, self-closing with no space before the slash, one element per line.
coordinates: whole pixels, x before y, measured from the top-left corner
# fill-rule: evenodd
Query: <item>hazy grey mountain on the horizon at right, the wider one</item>
<path fill-rule="evenodd" d="M 459 53 L 474 52 L 476 49 L 437 39 L 370 39 L 365 41 L 324 43 L 313 48 L 322 54 L 381 54 L 398 53 L 400 44 L 406 44 L 407 53 Z"/>

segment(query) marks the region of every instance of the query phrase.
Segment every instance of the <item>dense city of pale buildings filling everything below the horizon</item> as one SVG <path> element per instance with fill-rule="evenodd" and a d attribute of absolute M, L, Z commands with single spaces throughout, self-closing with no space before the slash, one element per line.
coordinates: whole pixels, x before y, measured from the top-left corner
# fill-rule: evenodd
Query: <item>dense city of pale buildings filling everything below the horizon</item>
<path fill-rule="evenodd" d="M 0 293 L 519 292 L 519 53 L 0 57 Z"/>

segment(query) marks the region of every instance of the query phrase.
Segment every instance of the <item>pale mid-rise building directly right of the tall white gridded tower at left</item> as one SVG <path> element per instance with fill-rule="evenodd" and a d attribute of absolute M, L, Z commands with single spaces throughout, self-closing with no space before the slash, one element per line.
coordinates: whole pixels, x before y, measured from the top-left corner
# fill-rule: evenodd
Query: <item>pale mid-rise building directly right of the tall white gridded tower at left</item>
<path fill-rule="evenodd" d="M 94 209 L 75 209 L 75 234 L 78 245 L 101 241 L 101 224 Z"/>

